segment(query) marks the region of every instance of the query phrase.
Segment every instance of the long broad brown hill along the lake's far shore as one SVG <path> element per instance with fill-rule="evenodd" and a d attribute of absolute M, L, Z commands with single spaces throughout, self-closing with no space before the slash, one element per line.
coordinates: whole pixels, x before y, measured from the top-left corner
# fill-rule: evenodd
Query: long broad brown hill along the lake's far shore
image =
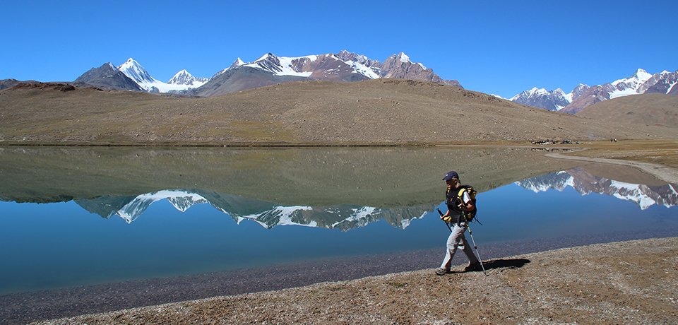
<path fill-rule="evenodd" d="M 453 86 L 382 79 L 303 81 L 213 98 L 87 88 L 0 91 L 4 143 L 447 143 L 538 138 L 676 138 Z"/>

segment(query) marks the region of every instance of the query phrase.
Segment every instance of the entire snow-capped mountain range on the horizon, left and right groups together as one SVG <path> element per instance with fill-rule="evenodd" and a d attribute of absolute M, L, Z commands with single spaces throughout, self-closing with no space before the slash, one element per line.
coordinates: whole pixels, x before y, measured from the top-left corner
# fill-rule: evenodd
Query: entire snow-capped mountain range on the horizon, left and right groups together
<path fill-rule="evenodd" d="M 153 78 L 138 61 L 130 58 L 119 66 L 106 63 L 90 69 L 73 81 L 73 84 L 105 90 L 210 97 L 288 81 L 352 82 L 378 78 L 432 81 L 463 88 L 458 81 L 444 80 L 424 64 L 412 62 L 403 52 L 391 55 L 382 63 L 346 50 L 336 54 L 304 57 L 278 57 L 266 53 L 249 63 L 237 58 L 230 66 L 214 73 L 210 78 L 192 76 L 184 69 L 166 83 Z M 0 81 L 0 89 L 10 88 L 18 83 L 20 81 L 5 79 Z M 627 78 L 603 85 L 590 86 L 580 83 L 569 93 L 565 93 L 561 88 L 546 90 L 535 87 L 508 100 L 544 110 L 576 114 L 597 102 L 626 95 L 645 93 L 678 95 L 676 83 L 678 71 L 651 74 L 643 69 L 637 69 Z"/>

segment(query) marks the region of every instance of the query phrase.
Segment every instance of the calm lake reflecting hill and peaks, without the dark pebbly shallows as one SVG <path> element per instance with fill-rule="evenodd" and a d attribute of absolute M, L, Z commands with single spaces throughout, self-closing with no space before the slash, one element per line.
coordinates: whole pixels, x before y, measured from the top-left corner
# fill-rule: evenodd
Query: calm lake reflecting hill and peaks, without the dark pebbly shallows
<path fill-rule="evenodd" d="M 4 148 L 0 162 L 0 295 L 443 254 L 452 169 L 479 191 L 481 249 L 678 233 L 676 184 L 530 148 Z"/>

